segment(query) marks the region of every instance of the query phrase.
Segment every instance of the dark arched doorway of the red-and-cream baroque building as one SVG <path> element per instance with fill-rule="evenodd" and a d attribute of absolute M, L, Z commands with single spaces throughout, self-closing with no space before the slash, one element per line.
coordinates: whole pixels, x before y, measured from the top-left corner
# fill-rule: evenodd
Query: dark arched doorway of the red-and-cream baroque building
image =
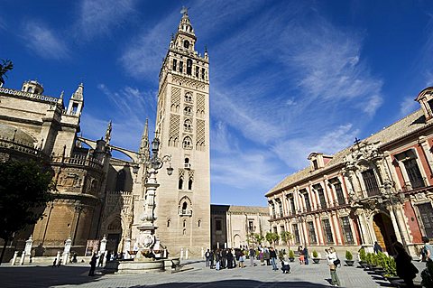
<path fill-rule="evenodd" d="M 374 215 L 373 229 L 377 243 L 382 246 L 383 251 L 387 251 L 388 254 L 394 255 L 392 243 L 397 241 L 397 237 L 395 236 L 391 218 L 384 213 Z"/>

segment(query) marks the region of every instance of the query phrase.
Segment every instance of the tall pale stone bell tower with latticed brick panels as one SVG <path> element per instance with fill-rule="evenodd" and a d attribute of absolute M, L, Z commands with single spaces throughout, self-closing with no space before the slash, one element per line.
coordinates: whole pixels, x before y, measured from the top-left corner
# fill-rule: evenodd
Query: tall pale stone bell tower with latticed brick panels
<path fill-rule="evenodd" d="M 157 175 L 156 234 L 170 254 L 199 256 L 210 245 L 209 62 L 195 49 L 188 10 L 181 14 L 160 72 L 156 133 L 174 171 Z"/>

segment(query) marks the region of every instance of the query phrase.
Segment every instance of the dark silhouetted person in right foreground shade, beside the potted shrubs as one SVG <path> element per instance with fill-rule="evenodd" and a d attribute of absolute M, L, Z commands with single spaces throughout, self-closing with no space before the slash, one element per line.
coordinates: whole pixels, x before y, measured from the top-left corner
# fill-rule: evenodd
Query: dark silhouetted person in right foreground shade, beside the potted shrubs
<path fill-rule="evenodd" d="M 406 252 L 404 246 L 400 242 L 394 243 L 395 252 L 397 256 L 395 257 L 395 265 L 397 268 L 397 275 L 404 280 L 406 287 L 413 288 L 413 278 L 418 274 L 418 269 L 412 263 L 412 257 Z"/>

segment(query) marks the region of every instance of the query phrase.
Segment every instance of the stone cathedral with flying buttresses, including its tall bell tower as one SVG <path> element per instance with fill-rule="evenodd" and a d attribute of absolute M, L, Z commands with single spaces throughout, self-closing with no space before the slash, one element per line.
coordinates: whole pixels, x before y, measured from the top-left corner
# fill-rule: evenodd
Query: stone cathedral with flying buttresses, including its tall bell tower
<path fill-rule="evenodd" d="M 155 235 L 170 255 L 188 249 L 200 256 L 210 246 L 209 62 L 196 42 L 184 9 L 159 75 L 155 139 L 146 121 L 136 152 L 111 144 L 111 122 L 99 140 L 79 136 L 82 83 L 68 103 L 63 92 L 45 96 L 36 80 L 20 90 L 0 88 L 0 161 L 39 159 L 51 166 L 55 186 L 44 217 L 15 234 L 5 260 L 31 236 L 35 256 L 56 255 L 67 239 L 71 252 L 85 255 L 103 237 L 107 250 L 126 253 L 139 244 L 138 228 L 149 210 L 156 215 Z M 155 143 L 163 167 L 149 205 Z M 113 151 L 128 160 L 116 159 Z"/>

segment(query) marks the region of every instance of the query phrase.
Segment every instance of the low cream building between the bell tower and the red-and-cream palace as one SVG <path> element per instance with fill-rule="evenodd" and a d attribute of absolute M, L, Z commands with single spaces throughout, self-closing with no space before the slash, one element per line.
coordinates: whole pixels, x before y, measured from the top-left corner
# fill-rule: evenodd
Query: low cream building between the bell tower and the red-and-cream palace
<path fill-rule="evenodd" d="M 213 249 L 257 246 L 253 235 L 264 237 L 270 230 L 267 207 L 210 205 L 210 214 Z"/>

